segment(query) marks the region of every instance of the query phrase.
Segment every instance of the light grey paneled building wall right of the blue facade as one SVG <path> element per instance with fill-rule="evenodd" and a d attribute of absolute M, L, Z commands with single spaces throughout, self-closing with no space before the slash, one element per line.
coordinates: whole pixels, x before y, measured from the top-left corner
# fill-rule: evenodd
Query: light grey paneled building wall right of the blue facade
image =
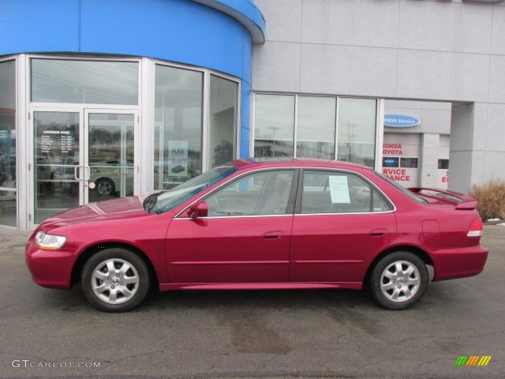
<path fill-rule="evenodd" d="M 255 3 L 267 30 L 252 90 L 470 103 L 475 112 L 452 116 L 449 188 L 505 176 L 505 2 Z"/>

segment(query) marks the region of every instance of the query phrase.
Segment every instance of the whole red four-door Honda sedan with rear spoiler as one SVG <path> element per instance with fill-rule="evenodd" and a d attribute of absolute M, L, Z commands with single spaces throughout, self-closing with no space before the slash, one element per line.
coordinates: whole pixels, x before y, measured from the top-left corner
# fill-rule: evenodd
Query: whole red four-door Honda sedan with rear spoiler
<path fill-rule="evenodd" d="M 370 289 L 406 309 L 433 281 L 480 273 L 488 250 L 469 196 L 405 189 L 336 161 L 234 161 L 166 192 L 83 205 L 26 246 L 40 286 L 81 283 L 127 311 L 160 290 Z"/>

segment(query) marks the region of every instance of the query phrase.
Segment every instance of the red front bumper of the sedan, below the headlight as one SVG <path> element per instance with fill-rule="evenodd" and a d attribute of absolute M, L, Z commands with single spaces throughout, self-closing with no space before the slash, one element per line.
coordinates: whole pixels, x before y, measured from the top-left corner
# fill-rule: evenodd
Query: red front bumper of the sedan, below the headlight
<path fill-rule="evenodd" d="M 42 287 L 70 289 L 70 277 L 75 261 L 68 250 L 47 251 L 37 248 L 33 236 L 26 244 L 25 260 L 35 283 Z"/>

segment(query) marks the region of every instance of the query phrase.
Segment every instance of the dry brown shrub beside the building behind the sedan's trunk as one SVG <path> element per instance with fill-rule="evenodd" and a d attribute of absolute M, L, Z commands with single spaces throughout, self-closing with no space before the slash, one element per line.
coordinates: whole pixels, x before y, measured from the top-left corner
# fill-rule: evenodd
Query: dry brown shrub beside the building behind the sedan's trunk
<path fill-rule="evenodd" d="M 474 184 L 469 195 L 479 202 L 477 212 L 482 220 L 505 218 L 505 180 L 492 179 L 486 184 Z"/>

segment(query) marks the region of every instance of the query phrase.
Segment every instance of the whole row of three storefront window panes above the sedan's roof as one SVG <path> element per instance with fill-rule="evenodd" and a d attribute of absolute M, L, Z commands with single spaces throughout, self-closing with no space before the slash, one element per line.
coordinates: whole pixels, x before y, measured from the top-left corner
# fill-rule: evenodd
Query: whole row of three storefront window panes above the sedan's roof
<path fill-rule="evenodd" d="M 257 93 L 255 100 L 255 157 L 335 159 L 338 130 L 336 159 L 375 167 L 376 99 Z"/>

